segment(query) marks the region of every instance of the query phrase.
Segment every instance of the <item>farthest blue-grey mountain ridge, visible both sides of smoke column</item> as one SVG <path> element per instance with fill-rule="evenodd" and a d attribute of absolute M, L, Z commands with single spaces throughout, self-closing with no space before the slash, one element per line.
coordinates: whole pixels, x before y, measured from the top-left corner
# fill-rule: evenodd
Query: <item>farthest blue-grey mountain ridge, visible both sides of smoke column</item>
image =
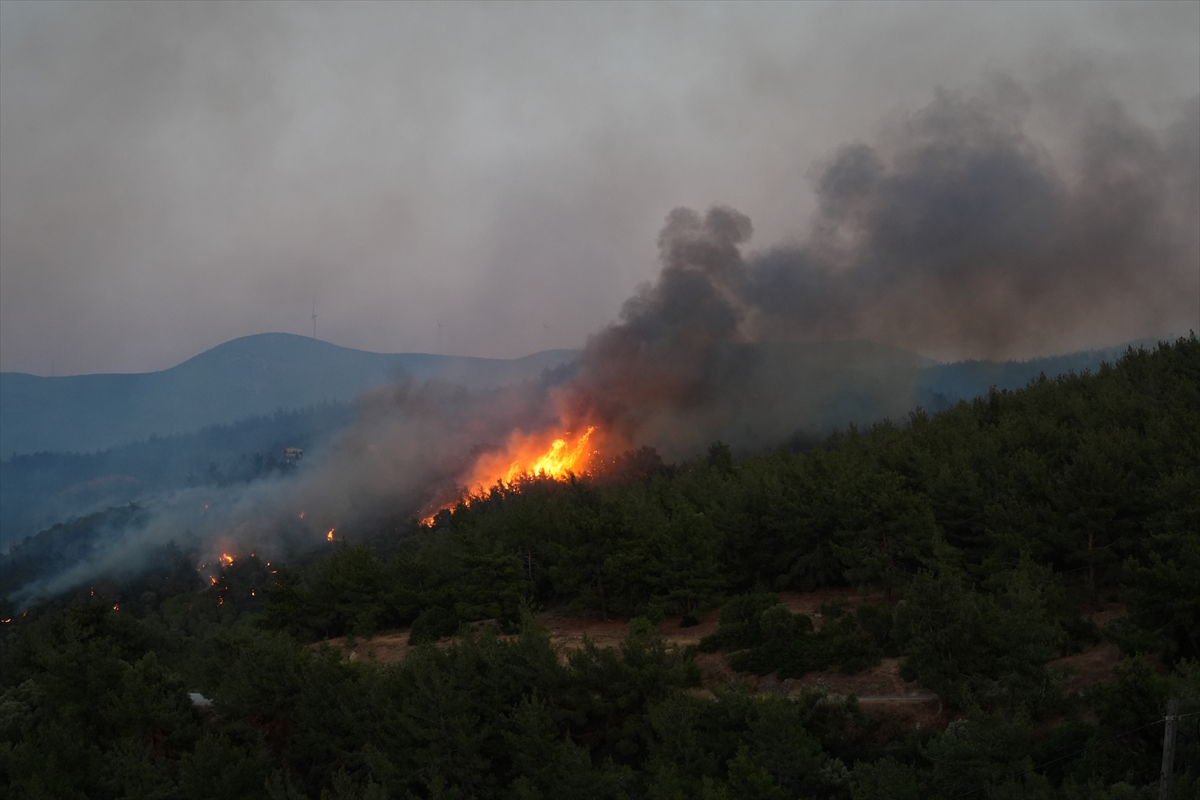
<path fill-rule="evenodd" d="M 809 416 L 839 427 L 847 421 L 864 423 L 902 414 L 911 405 L 938 410 L 986 393 L 991 386 L 1019 389 L 1042 372 L 1056 375 L 1096 369 L 1102 361 L 1115 361 L 1126 348 L 1142 344 L 1153 345 L 1153 341 L 1003 362 L 936 363 L 869 342 L 743 345 L 725 357 L 758 366 L 757 378 L 744 389 L 748 396 L 756 396 L 760 417 L 780 415 L 775 433 L 782 437 L 796 413 L 793 407 L 804 399 L 803 391 L 796 393 L 797 387 L 814 379 L 833 385 L 835 373 L 851 378 L 845 391 L 826 396 L 820 405 L 829 408 L 815 405 Z M 577 356 L 577 350 L 545 350 L 511 360 L 370 353 L 294 333 L 259 333 L 232 339 L 160 372 L 62 378 L 6 372 L 0 373 L 0 458 L 46 451 L 92 452 L 152 435 L 190 434 L 281 409 L 348 403 L 368 389 L 404 377 L 438 378 L 472 387 L 499 385 L 536 378 Z"/>

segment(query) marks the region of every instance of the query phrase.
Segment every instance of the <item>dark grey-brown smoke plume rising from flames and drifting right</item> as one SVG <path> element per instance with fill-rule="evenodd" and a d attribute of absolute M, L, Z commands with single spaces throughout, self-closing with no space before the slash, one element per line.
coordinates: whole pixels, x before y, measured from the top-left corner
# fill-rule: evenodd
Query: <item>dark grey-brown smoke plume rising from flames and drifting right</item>
<path fill-rule="evenodd" d="M 797 243 L 748 253 L 745 215 L 672 211 L 661 272 L 589 339 L 560 398 L 566 419 L 672 455 L 718 434 L 763 446 L 815 422 L 797 398 L 839 384 L 799 371 L 780 385 L 786 363 L 755 343 L 869 339 L 997 359 L 1105 331 L 1195 329 L 1200 102 L 1152 131 L 1094 101 L 1057 158 L 1027 131 L 1030 107 L 1004 79 L 938 91 L 880 143 L 844 145 L 817 173 Z M 917 365 L 896 366 L 902 411 Z M 796 413 L 763 419 L 764 380 Z"/>

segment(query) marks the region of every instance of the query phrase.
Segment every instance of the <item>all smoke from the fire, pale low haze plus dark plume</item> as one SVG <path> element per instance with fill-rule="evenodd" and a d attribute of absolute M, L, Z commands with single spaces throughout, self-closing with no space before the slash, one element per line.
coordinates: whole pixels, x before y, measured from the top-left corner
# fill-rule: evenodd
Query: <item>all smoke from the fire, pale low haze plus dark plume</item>
<path fill-rule="evenodd" d="M 170 511 L 196 498 L 173 500 L 37 591 L 130 565 L 182 530 L 262 543 L 304 507 L 318 545 L 326 525 L 416 513 L 514 429 L 594 422 L 610 452 L 648 444 L 671 458 L 714 439 L 746 450 L 906 410 L 926 361 L 889 347 L 1003 357 L 1200 327 L 1200 102 L 1160 130 L 1115 101 L 1085 103 L 1050 144 L 1031 133 L 1033 106 L 1007 80 L 937 92 L 822 163 L 806 234 L 776 247 L 750 251 L 737 210 L 677 209 L 658 277 L 588 339 L 566 384 L 370 395 L 301 479 L 254 487 L 204 525 Z"/>

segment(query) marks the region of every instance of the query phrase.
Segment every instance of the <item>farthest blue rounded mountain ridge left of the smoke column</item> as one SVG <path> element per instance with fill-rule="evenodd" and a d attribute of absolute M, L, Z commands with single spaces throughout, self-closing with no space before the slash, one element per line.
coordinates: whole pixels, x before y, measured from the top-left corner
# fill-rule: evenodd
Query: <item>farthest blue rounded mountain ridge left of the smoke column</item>
<path fill-rule="evenodd" d="M 577 356 L 522 359 L 370 353 L 294 333 L 244 336 L 160 372 L 44 378 L 0 373 L 0 455 L 90 452 L 191 433 L 323 402 L 410 377 L 486 386 L 536 378 Z"/>

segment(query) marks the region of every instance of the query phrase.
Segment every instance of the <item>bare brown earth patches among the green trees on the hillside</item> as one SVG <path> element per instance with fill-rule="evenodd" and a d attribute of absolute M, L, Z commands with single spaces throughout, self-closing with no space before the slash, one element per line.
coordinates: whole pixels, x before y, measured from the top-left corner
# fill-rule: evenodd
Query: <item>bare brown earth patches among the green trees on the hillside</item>
<path fill-rule="evenodd" d="M 841 589 L 814 593 L 785 591 L 780 593 L 780 600 L 793 613 L 808 614 L 812 618 L 814 625 L 820 627 L 824 619 L 820 613 L 822 604 L 840 601 L 847 609 L 853 609 L 860 604 L 878 602 L 882 596 Z M 1123 614 L 1123 607 L 1110 603 L 1096 609 L 1090 618 L 1103 625 Z M 668 644 L 686 648 L 700 644 L 702 637 L 716 630 L 719 612 L 710 609 L 698 619 L 698 625 L 679 627 L 679 616 L 667 618 L 658 628 Z M 538 621 L 550 630 L 551 643 L 564 661 L 571 650 L 583 646 L 584 637 L 600 648 L 617 648 L 629 628 L 629 619 L 622 616 L 611 616 L 605 621 L 599 616 L 565 616 L 558 612 L 542 612 L 538 615 Z M 350 661 L 373 660 L 379 663 L 396 663 L 412 649 L 408 644 L 408 628 L 401 628 L 378 633 L 370 639 L 348 640 L 348 637 L 338 637 L 324 644 L 343 650 Z M 1081 652 L 1057 658 L 1050 662 L 1050 667 L 1064 673 L 1066 688 L 1079 690 L 1097 681 L 1116 680 L 1115 669 L 1120 660 L 1121 652 L 1116 645 L 1103 642 Z M 826 669 L 786 680 L 779 680 L 774 675 L 737 673 L 730 667 L 722 652 L 697 652 L 696 663 L 701 669 L 701 692 L 706 694 L 733 681 L 740 681 L 750 691 L 761 694 L 792 696 L 799 694 L 805 687 L 816 687 L 836 694 L 854 694 L 863 711 L 887 727 L 942 728 L 953 718 L 942 708 L 936 694 L 900 678 L 900 658 L 883 658 L 880 664 L 856 674 Z"/>

